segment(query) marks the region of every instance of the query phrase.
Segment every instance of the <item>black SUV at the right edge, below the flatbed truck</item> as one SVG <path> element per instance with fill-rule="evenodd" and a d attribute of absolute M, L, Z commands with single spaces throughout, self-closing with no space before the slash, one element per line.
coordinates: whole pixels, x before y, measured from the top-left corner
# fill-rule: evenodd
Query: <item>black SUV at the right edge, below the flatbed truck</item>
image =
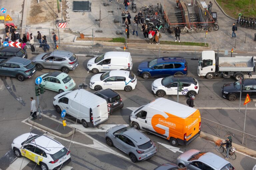
<path fill-rule="evenodd" d="M 234 83 L 226 83 L 221 88 L 222 96 L 229 101 L 235 101 L 240 97 L 240 80 Z M 256 79 L 244 79 L 242 82 L 241 98 L 246 98 L 249 94 L 251 99 L 256 99 Z"/>

